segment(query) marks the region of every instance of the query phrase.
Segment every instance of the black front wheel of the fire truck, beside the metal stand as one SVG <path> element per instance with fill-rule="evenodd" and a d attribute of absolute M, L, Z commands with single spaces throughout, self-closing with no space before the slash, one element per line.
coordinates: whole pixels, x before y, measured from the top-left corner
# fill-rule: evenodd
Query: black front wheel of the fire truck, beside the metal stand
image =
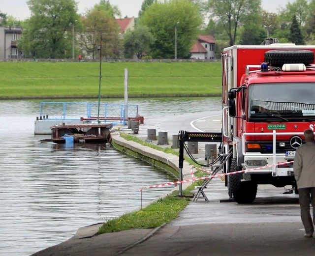
<path fill-rule="evenodd" d="M 241 167 L 237 166 L 237 159 L 234 157 L 231 162 L 230 172 L 240 171 Z M 252 181 L 243 181 L 242 173 L 228 175 L 228 193 L 238 203 L 252 203 L 257 194 L 257 184 Z"/>

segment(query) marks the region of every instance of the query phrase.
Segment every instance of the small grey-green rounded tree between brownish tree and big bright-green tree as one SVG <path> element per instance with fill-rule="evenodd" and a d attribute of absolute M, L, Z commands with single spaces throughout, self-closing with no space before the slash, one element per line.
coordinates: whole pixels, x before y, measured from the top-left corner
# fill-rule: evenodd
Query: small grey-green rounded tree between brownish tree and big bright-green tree
<path fill-rule="evenodd" d="M 150 54 L 153 42 L 154 36 L 147 27 L 137 26 L 134 30 L 128 30 L 124 36 L 125 57 L 132 58 L 135 54 L 140 59 L 143 54 Z"/>

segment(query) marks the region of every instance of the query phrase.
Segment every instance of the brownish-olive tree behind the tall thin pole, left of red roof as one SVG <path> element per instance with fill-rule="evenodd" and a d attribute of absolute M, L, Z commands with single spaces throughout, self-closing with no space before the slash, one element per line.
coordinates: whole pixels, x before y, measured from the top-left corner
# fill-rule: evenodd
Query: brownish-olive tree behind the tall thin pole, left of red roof
<path fill-rule="evenodd" d="M 120 55 L 119 28 L 110 11 L 95 5 L 88 11 L 83 24 L 84 31 L 80 35 L 79 45 L 85 55 L 95 59 L 100 45 L 103 57 L 112 58 Z"/>

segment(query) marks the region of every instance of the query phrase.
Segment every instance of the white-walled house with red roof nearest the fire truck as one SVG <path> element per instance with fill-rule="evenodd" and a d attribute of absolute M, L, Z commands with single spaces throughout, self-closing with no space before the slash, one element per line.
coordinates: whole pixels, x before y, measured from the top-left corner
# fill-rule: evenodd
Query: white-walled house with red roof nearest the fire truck
<path fill-rule="evenodd" d="M 199 35 L 191 47 L 190 58 L 215 58 L 215 44 L 216 39 L 212 35 Z"/>

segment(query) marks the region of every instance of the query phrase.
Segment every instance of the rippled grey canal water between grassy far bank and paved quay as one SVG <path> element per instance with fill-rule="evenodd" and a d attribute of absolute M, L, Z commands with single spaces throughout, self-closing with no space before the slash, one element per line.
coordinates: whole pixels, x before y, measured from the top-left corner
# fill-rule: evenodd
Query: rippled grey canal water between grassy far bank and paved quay
<path fill-rule="evenodd" d="M 172 188 L 145 190 L 141 202 L 141 187 L 176 180 L 110 144 L 65 147 L 39 142 L 47 138 L 34 136 L 39 103 L 0 101 L 0 256 L 29 256 L 61 243 L 80 227 L 135 210 Z M 145 122 L 221 108 L 219 98 L 128 103 L 139 105 Z"/>

